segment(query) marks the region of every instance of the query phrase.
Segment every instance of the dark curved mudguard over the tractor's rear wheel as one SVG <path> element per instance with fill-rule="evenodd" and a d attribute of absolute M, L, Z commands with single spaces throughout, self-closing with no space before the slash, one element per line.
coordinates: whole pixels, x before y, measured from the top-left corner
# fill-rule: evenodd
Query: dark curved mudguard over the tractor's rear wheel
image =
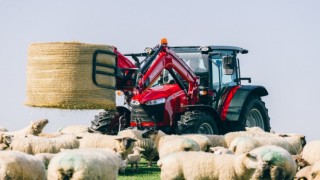
<path fill-rule="evenodd" d="M 268 91 L 263 86 L 241 85 L 234 93 L 226 115 L 224 118 L 222 118 L 222 120 L 238 121 L 243 104 L 251 94 L 262 97 L 268 95 Z"/>

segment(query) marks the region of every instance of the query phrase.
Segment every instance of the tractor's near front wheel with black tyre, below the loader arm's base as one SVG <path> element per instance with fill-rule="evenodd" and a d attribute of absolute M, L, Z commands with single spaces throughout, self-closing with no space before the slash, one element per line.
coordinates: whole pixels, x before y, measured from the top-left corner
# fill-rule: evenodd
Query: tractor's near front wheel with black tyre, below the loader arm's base
<path fill-rule="evenodd" d="M 218 134 L 214 119 L 201 111 L 187 111 L 177 124 L 179 134 Z"/>

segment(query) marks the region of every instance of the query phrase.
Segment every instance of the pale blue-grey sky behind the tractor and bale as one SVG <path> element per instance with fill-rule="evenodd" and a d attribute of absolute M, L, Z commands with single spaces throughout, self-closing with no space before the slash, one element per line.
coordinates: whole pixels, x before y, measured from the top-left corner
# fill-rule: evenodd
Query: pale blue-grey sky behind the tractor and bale
<path fill-rule="evenodd" d="M 243 77 L 269 95 L 271 128 L 320 139 L 320 1 L 317 0 L 0 0 L 0 126 L 17 130 L 47 118 L 44 131 L 90 125 L 97 111 L 30 108 L 28 46 L 34 42 L 109 44 L 141 52 L 169 45 L 233 45 Z"/>

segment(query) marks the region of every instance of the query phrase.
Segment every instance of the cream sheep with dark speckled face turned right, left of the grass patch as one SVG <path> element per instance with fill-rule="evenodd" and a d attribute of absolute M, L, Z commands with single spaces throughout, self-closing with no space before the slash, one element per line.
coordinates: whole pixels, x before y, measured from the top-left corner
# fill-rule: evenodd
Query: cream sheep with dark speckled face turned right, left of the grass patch
<path fill-rule="evenodd" d="M 110 148 L 121 154 L 125 160 L 132 152 L 136 139 L 123 136 L 104 135 L 99 133 L 83 133 L 80 138 L 79 148 Z"/>

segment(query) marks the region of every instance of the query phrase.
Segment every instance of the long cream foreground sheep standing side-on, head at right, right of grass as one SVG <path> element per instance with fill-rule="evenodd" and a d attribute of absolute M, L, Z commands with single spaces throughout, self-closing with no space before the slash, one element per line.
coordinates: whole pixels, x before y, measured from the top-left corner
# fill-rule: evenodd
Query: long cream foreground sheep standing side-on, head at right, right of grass
<path fill-rule="evenodd" d="M 172 179 L 252 179 L 260 174 L 264 163 L 259 156 L 214 155 L 206 152 L 176 152 L 160 159 L 162 180 Z"/>

